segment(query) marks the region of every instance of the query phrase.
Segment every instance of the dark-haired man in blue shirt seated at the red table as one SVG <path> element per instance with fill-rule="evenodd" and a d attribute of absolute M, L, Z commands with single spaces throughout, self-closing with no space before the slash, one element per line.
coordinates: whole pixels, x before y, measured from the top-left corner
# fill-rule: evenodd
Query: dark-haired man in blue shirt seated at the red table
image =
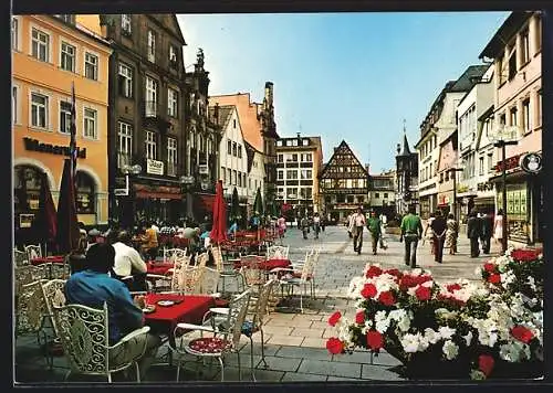
<path fill-rule="evenodd" d="M 104 302 L 108 310 L 109 344 L 144 326 L 144 315 L 133 302 L 125 284 L 107 274 L 115 263 L 115 249 L 111 244 L 94 244 L 86 254 L 85 269 L 73 274 L 65 283 L 67 304 L 77 304 L 101 309 Z M 145 375 L 154 361 L 160 339 L 147 333 L 121 346 L 109 353 L 113 365 L 140 355 L 146 341 L 146 351 L 139 360 L 140 375 Z"/>

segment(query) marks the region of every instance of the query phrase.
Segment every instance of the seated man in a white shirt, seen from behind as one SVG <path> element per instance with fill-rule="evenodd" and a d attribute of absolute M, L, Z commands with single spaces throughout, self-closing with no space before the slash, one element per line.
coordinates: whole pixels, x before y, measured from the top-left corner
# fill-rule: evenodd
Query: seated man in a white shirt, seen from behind
<path fill-rule="evenodd" d="M 133 276 L 133 279 L 125 284 L 129 290 L 148 290 L 146 285 L 146 263 L 140 257 L 140 254 L 133 248 L 131 234 L 127 231 L 121 231 L 117 236 L 117 242 L 113 244 L 115 248 L 115 265 L 113 270 L 118 278 Z"/>

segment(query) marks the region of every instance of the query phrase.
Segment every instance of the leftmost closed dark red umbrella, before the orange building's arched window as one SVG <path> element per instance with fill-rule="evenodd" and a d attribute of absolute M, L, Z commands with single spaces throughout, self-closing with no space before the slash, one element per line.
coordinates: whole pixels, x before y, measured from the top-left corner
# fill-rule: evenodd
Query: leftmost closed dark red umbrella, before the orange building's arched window
<path fill-rule="evenodd" d="M 39 213 L 33 222 L 33 232 L 40 243 L 52 244 L 55 242 L 58 216 L 45 172 L 41 174 Z"/>

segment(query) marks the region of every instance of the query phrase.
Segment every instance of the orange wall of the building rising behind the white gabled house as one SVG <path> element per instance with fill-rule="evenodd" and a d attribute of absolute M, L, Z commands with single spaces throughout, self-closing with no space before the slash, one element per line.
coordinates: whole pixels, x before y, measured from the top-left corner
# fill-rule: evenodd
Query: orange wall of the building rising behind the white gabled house
<path fill-rule="evenodd" d="M 209 105 L 233 105 L 237 107 L 242 136 L 244 141 L 255 150 L 263 151 L 263 137 L 261 136 L 261 121 L 258 118 L 258 105 L 250 102 L 249 93 L 210 96 Z"/>

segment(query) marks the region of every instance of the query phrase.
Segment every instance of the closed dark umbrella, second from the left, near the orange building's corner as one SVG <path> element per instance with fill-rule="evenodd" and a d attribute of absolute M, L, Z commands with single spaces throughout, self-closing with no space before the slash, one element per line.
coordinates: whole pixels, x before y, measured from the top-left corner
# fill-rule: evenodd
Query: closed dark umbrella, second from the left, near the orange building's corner
<path fill-rule="evenodd" d="M 71 159 L 63 163 L 60 201 L 58 202 L 58 251 L 67 254 L 79 247 L 79 221 L 76 216 L 75 182 Z"/>

